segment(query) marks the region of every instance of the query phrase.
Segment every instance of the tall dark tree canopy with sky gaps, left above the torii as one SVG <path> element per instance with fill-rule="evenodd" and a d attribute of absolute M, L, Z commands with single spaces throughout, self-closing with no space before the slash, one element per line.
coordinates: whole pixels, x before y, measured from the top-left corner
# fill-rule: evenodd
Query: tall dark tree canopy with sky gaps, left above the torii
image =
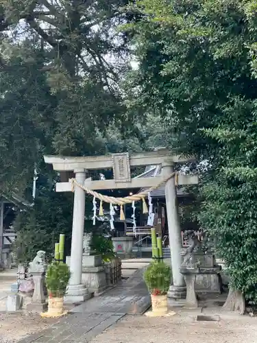
<path fill-rule="evenodd" d="M 42 154 L 108 151 L 125 121 L 118 82 L 127 69 L 123 0 L 2 1 L 2 191 L 25 191 Z M 110 146 L 110 145 L 109 145 Z"/>

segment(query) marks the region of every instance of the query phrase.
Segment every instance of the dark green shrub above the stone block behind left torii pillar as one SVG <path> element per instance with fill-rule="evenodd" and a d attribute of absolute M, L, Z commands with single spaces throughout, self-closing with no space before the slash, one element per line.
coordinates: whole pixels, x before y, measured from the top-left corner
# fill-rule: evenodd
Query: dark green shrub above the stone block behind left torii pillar
<path fill-rule="evenodd" d="M 112 241 L 103 235 L 93 235 L 91 247 L 97 254 L 101 255 L 105 262 L 110 262 L 116 257 Z"/>

